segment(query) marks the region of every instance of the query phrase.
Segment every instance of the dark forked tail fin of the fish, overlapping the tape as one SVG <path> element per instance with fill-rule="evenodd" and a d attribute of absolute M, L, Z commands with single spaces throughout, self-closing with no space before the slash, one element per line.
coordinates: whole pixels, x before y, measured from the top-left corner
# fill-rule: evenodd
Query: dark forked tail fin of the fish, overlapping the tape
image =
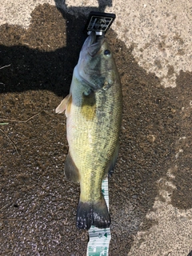
<path fill-rule="evenodd" d="M 110 226 L 110 214 L 103 195 L 97 202 L 78 202 L 78 228 L 89 230 L 92 225 L 100 229 Z"/>

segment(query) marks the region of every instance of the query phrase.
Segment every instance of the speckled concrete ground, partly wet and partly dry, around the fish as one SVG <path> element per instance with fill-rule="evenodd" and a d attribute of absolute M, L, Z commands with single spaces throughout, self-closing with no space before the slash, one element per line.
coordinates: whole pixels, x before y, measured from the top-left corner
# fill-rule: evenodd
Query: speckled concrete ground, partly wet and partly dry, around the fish
<path fill-rule="evenodd" d="M 192 254 L 190 1 L 26 1 L 0 7 L 0 255 L 86 255 L 79 187 L 64 178 L 69 92 L 90 10 L 117 15 L 106 37 L 122 80 L 110 178 L 110 256 Z"/>

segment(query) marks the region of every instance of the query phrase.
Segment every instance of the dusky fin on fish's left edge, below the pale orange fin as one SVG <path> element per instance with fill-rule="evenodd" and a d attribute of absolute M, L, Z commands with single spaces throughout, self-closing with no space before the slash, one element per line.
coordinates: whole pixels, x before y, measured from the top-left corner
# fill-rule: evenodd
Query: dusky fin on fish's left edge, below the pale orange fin
<path fill-rule="evenodd" d="M 72 182 L 79 182 L 79 172 L 77 166 L 74 164 L 74 160 L 70 156 L 70 152 L 66 156 L 66 163 L 64 167 L 66 179 Z"/>

